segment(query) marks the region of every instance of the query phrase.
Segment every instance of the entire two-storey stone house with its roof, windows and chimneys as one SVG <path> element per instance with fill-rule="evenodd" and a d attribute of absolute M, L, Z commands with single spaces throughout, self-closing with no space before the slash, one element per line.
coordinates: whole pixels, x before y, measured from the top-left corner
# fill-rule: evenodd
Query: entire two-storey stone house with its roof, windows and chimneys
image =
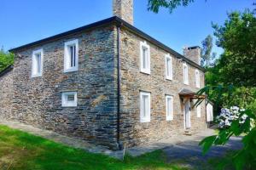
<path fill-rule="evenodd" d="M 0 75 L 0 117 L 117 150 L 207 127 L 201 49 L 172 48 L 133 26 L 133 1 L 114 16 L 13 48 Z"/>

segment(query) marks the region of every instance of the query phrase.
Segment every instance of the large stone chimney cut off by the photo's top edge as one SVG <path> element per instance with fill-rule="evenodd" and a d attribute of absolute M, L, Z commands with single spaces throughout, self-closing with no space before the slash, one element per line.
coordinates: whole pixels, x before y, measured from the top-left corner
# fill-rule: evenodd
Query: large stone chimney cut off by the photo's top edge
<path fill-rule="evenodd" d="M 113 0 L 113 15 L 133 25 L 133 0 Z"/>

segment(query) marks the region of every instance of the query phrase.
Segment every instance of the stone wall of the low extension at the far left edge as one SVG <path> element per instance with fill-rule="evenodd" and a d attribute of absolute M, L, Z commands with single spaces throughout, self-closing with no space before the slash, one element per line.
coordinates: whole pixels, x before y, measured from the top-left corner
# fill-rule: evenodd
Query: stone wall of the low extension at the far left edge
<path fill-rule="evenodd" d="M 13 95 L 13 72 L 9 71 L 0 77 L 0 119 L 11 114 Z"/>

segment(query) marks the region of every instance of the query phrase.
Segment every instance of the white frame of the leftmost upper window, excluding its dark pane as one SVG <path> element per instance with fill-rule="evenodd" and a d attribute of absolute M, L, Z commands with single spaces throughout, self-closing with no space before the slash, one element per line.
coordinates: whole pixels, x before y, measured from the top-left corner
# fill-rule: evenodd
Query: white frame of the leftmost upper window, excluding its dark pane
<path fill-rule="evenodd" d="M 36 57 L 37 54 L 40 54 L 40 60 L 41 60 L 41 65 L 40 65 L 40 71 L 35 71 L 36 66 L 38 65 Z M 43 48 L 35 50 L 32 52 L 32 77 L 42 77 L 43 75 L 43 66 L 44 66 L 44 51 Z"/>

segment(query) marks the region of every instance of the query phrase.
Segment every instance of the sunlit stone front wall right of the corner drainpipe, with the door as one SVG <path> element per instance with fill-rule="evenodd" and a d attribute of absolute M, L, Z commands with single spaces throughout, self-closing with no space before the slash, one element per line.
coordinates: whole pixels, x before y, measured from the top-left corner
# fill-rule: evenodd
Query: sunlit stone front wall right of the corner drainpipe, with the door
<path fill-rule="evenodd" d="M 178 93 L 183 88 L 195 88 L 195 67 L 189 66 L 189 85 L 183 84 L 183 61 L 172 58 L 173 80 L 166 80 L 165 54 L 161 48 L 150 46 L 151 74 L 140 72 L 140 42 L 145 41 L 130 31 L 121 30 L 121 140 L 128 145 L 137 145 L 184 133 L 183 101 Z M 171 54 L 172 55 L 172 54 Z M 172 55 L 173 56 L 173 55 Z M 201 87 L 204 86 L 204 73 Z M 140 91 L 151 93 L 151 121 L 140 122 Z M 173 121 L 166 121 L 166 94 L 173 95 Z M 201 105 L 201 117 L 191 111 L 191 132 L 207 127 L 206 108 Z"/>

